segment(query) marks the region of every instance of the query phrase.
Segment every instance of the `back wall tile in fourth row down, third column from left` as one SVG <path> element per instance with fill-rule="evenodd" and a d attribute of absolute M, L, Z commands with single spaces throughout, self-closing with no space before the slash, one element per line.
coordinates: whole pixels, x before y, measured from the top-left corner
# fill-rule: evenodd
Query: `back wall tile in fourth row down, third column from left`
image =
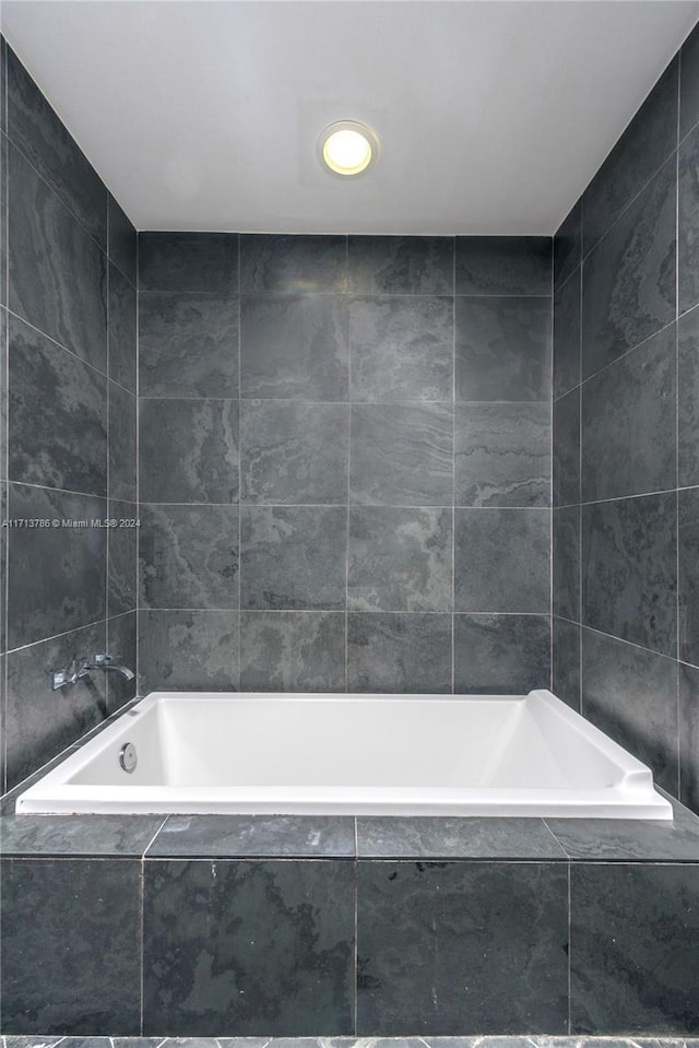
<path fill-rule="evenodd" d="M 347 607 L 451 611 L 451 510 L 350 510 Z"/>

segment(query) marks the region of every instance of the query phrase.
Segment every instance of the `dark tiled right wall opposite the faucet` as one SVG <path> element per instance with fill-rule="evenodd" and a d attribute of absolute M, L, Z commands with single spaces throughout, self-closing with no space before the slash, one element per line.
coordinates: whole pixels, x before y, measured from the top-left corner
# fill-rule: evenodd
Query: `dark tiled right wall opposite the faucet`
<path fill-rule="evenodd" d="M 695 811 L 698 87 L 695 31 L 558 231 L 553 378 L 554 691 Z"/>

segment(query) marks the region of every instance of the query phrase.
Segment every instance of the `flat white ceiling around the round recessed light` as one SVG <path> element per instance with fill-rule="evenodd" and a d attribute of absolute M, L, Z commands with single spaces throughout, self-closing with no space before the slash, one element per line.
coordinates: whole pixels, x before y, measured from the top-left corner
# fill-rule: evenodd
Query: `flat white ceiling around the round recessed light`
<path fill-rule="evenodd" d="M 4 0 L 139 228 L 550 234 L 699 16 L 684 0 Z M 316 141 L 371 123 L 342 181 Z"/>

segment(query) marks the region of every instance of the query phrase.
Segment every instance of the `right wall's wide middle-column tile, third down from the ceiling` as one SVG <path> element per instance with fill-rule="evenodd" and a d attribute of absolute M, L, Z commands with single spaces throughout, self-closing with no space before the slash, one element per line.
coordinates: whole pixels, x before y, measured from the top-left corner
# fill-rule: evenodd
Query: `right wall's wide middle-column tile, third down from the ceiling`
<path fill-rule="evenodd" d="M 675 325 L 582 387 L 582 501 L 675 486 Z"/>

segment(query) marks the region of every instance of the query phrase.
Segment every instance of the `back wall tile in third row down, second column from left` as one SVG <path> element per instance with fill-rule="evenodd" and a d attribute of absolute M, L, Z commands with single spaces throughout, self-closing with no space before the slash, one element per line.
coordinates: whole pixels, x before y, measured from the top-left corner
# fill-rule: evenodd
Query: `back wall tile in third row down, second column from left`
<path fill-rule="evenodd" d="M 242 501 L 346 503 L 348 412 L 344 404 L 242 401 Z"/>

